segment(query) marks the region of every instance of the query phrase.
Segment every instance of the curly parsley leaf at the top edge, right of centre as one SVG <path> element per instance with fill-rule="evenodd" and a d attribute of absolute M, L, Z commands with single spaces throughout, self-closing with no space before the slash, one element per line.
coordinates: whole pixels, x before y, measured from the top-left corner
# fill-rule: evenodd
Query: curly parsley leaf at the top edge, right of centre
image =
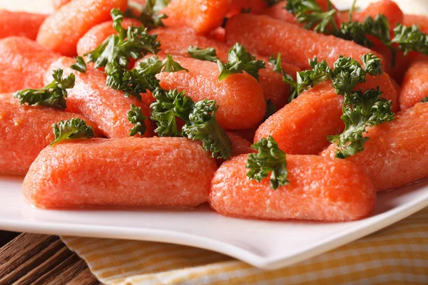
<path fill-rule="evenodd" d="M 329 11 L 322 11 L 315 0 L 288 0 L 284 9 L 295 15 L 298 23 L 305 24 L 304 28 L 317 33 L 337 32 L 335 21 L 337 10 L 333 8 L 330 1 Z"/>

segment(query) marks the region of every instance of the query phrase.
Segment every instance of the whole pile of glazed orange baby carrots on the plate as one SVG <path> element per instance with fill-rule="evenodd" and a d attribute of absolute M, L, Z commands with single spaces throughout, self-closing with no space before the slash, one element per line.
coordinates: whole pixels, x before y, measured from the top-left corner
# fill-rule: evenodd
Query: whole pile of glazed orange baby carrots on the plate
<path fill-rule="evenodd" d="M 162 1 L 168 4 L 169 1 Z M 151 28 L 161 42 L 156 54 L 172 55 L 188 71 L 159 73 L 165 90 L 185 90 L 192 100 L 215 100 L 216 120 L 231 141 L 232 157 L 216 160 L 189 138 L 156 135 L 151 92 L 141 100 L 106 85 L 105 68 L 87 62 L 85 73 L 70 66 L 116 33 L 111 10 L 138 14 L 144 0 L 54 0 L 50 15 L 0 11 L 0 174 L 26 175 L 23 193 L 36 207 L 197 207 L 209 202 L 219 214 L 257 219 L 351 221 L 372 212 L 376 193 L 428 178 L 428 57 L 397 52 L 374 41 L 372 48 L 302 27 L 283 7 L 287 1 L 175 0 L 159 14 L 164 26 Z M 275 2 L 275 1 L 274 1 Z M 330 1 L 317 0 L 327 10 Z M 245 11 L 245 13 L 242 13 Z M 125 15 L 127 15 L 125 13 Z M 428 33 L 428 16 L 403 14 L 390 0 L 357 11 L 353 21 L 387 16 L 390 26 L 417 24 Z M 349 12 L 337 11 L 337 25 Z M 124 19 L 123 28 L 141 26 Z M 189 56 L 189 46 L 215 48 L 220 61 L 240 43 L 265 62 L 258 79 L 235 73 L 218 80 L 218 64 Z M 327 140 L 345 130 L 344 96 L 327 80 L 289 102 L 292 88 L 269 56 L 281 54 L 282 70 L 296 78 L 317 57 L 333 66 L 340 56 L 361 61 L 372 53 L 384 72 L 357 88 L 377 88 L 392 101 L 394 120 L 367 128 L 365 150 L 336 158 Z M 141 57 L 144 60 L 146 57 Z M 141 61 L 140 60 L 140 61 Z M 131 61 L 131 68 L 139 61 Z M 20 104 L 17 90 L 43 88 L 52 71 L 74 73 L 66 109 Z M 266 115 L 267 101 L 276 112 Z M 127 112 L 133 104 L 146 117 L 146 132 L 130 137 Z M 50 145 L 51 125 L 80 118 L 97 138 Z M 265 177 L 250 180 L 251 145 L 272 137 L 285 152 L 287 185 L 276 190 Z"/>

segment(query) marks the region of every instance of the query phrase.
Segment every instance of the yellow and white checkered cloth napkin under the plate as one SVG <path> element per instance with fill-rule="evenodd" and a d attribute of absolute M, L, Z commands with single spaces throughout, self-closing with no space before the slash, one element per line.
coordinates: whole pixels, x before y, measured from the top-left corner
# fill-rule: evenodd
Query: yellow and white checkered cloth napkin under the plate
<path fill-rule="evenodd" d="M 62 239 L 105 284 L 428 284 L 428 208 L 356 242 L 275 271 L 175 244 Z"/>

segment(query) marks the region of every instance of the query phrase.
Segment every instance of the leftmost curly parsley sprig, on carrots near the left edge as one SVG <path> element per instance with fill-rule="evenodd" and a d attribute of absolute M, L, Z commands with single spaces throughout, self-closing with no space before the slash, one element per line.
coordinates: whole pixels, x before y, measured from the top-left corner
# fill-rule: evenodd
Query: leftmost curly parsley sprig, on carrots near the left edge
<path fill-rule="evenodd" d="M 55 108 L 66 108 L 67 90 L 74 87 L 76 77 L 70 73 L 63 78 L 63 70 L 52 71 L 54 81 L 40 89 L 26 89 L 14 93 L 14 98 L 19 99 L 19 104 L 23 105 L 44 105 Z"/>

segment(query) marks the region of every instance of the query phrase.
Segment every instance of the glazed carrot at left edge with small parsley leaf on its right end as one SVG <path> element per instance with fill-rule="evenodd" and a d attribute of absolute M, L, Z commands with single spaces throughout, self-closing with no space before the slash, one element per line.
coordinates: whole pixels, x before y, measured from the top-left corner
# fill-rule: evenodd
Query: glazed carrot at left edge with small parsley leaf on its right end
<path fill-rule="evenodd" d="M 0 174 L 25 175 L 39 152 L 54 141 L 51 125 L 71 118 L 85 120 L 99 134 L 96 125 L 82 115 L 19 105 L 11 93 L 0 94 Z"/>

